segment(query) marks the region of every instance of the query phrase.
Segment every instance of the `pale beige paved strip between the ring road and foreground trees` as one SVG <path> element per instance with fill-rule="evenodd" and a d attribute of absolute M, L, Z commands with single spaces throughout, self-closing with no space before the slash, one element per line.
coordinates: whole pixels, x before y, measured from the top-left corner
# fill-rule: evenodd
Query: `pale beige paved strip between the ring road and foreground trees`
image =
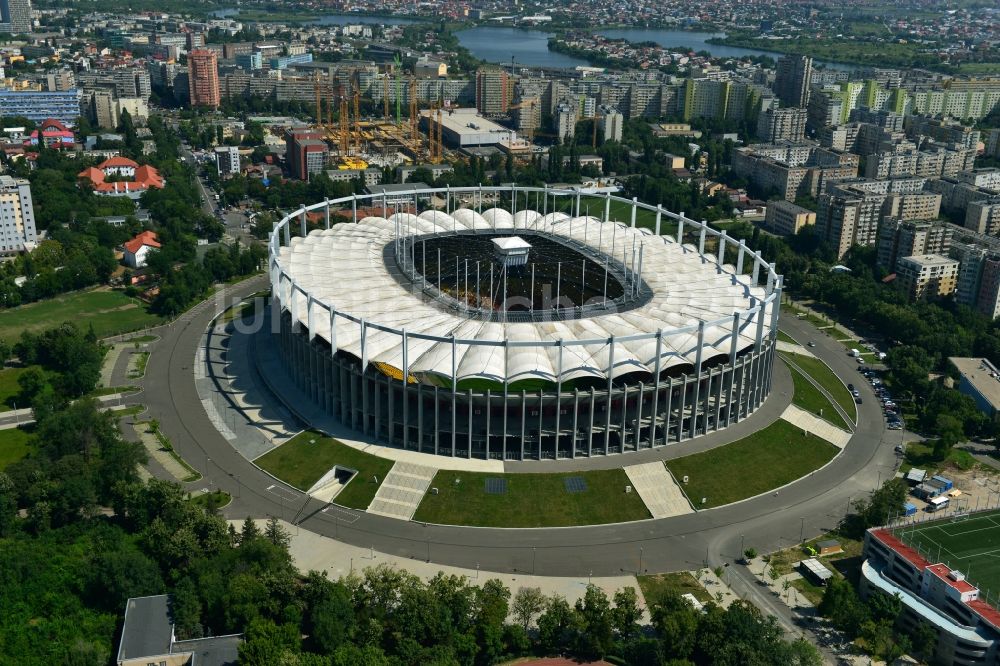
<path fill-rule="evenodd" d="M 237 531 L 243 524 L 242 520 L 231 520 L 229 522 Z M 267 521 L 263 519 L 255 522 L 261 530 L 267 525 Z M 537 587 L 546 596 L 559 595 L 565 598 L 570 605 L 583 597 L 587 591 L 588 583 L 592 583 L 604 590 L 608 598 L 611 598 L 615 592 L 622 588 L 632 587 L 635 588 L 635 592 L 639 596 L 639 604 L 643 611 L 642 622 L 649 622 L 649 613 L 646 611 L 646 600 L 642 596 L 642 590 L 639 589 L 639 584 L 635 576 L 554 577 L 509 572 L 500 573 L 486 571 L 485 569 L 482 571 L 477 569 L 463 569 L 427 563 L 422 559 L 386 555 L 370 548 L 350 546 L 306 529 L 298 529 L 284 521 L 281 524 L 291 536 L 289 552 L 291 552 L 292 561 L 298 567 L 299 571 L 302 572 L 326 571 L 331 578 L 337 579 L 348 575 L 352 571 L 360 572 L 371 567 L 386 565 L 393 569 L 408 571 L 424 581 L 430 580 L 439 573 L 465 576 L 472 584 L 482 584 L 490 579 L 499 579 L 511 591 L 511 597 L 522 587 Z"/>

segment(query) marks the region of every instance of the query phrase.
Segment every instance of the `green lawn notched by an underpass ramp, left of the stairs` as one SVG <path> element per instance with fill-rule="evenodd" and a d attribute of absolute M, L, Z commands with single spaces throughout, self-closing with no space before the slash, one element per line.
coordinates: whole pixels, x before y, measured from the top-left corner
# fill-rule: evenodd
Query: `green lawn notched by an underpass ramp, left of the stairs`
<path fill-rule="evenodd" d="M 315 443 L 313 443 L 315 442 Z M 393 461 L 358 451 L 331 437 L 303 432 L 254 460 L 259 467 L 300 490 L 309 490 L 334 465 L 358 470 L 334 503 L 367 509 Z M 373 481 L 378 477 L 378 482 Z"/>

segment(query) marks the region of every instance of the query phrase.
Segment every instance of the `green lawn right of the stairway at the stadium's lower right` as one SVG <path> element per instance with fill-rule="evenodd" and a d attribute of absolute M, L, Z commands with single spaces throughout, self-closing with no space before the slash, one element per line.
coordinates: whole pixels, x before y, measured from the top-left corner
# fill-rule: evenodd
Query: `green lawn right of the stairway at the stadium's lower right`
<path fill-rule="evenodd" d="M 711 508 L 790 483 L 836 454 L 833 444 L 779 419 L 731 444 L 668 460 L 667 467 L 675 479 L 688 477 L 682 488 L 695 507 Z"/>

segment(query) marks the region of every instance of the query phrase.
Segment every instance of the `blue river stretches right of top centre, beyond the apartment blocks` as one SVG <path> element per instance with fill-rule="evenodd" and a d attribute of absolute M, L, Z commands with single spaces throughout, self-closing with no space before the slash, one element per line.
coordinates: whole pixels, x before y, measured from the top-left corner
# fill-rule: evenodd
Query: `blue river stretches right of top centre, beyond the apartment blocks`
<path fill-rule="evenodd" d="M 627 39 L 630 42 L 656 42 L 666 48 L 684 46 L 692 51 L 708 51 L 713 56 L 720 58 L 738 58 L 746 55 L 766 55 L 772 58 L 781 56 L 780 53 L 774 51 L 709 44 L 707 40 L 725 36 L 723 33 L 715 32 L 623 28 L 602 30 L 600 34 L 612 39 Z M 541 30 L 479 26 L 461 30 L 455 35 L 458 37 L 459 43 L 469 49 L 472 55 L 487 62 L 509 64 L 511 56 L 514 56 L 518 64 L 531 67 L 577 67 L 589 64 L 581 58 L 549 51 L 549 38 L 553 35 Z M 845 71 L 857 69 L 855 65 L 843 63 L 822 60 L 813 62 L 831 69 Z"/>

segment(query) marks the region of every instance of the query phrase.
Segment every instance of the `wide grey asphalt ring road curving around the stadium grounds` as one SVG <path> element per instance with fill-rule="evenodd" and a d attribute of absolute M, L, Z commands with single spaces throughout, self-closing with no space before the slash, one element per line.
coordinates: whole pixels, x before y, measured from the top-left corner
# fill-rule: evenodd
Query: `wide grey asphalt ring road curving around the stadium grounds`
<path fill-rule="evenodd" d="M 540 576 L 596 576 L 686 570 L 718 566 L 741 556 L 741 545 L 769 552 L 834 528 L 851 499 L 870 493 L 878 479 L 889 478 L 897 462 L 874 393 L 858 382 L 865 400 L 859 424 L 843 453 L 829 465 L 774 493 L 726 507 L 671 518 L 572 528 L 471 528 L 405 522 L 337 509 L 309 499 L 292 504 L 269 491 L 275 479 L 243 458 L 218 432 L 195 389 L 193 365 L 205 329 L 225 307 L 266 287 L 265 277 L 225 288 L 170 325 L 155 332 L 144 380 L 142 402 L 148 417 L 158 419 L 174 448 L 204 475 L 199 483 L 228 492 L 235 499 L 225 514 L 277 516 L 339 541 L 418 560 L 484 571 Z M 809 324 L 786 318 L 785 330 L 796 339 L 814 340 L 812 351 L 841 377 L 856 366 L 843 347 L 820 336 Z M 627 462 L 627 458 L 622 459 Z M 288 494 L 302 493 L 285 486 Z M 735 567 L 738 576 L 748 575 Z M 749 585 L 745 585 L 749 588 Z M 770 610 L 780 609 L 767 602 Z M 777 612 L 776 612 L 777 611 Z M 787 615 L 787 611 L 784 613 Z"/>

